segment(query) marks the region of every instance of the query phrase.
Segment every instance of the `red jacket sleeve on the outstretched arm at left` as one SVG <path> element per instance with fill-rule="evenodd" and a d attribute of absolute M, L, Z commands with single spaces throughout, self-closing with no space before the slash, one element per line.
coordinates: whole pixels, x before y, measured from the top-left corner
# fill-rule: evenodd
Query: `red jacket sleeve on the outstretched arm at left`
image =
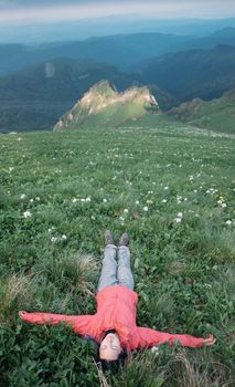
<path fill-rule="evenodd" d="M 90 333 L 89 327 L 93 320 L 93 315 L 66 316 L 63 314 L 28 312 L 19 312 L 19 315 L 23 321 L 33 324 L 57 325 L 60 323 L 65 323 L 72 326 L 73 331 L 79 335 L 87 335 Z"/>

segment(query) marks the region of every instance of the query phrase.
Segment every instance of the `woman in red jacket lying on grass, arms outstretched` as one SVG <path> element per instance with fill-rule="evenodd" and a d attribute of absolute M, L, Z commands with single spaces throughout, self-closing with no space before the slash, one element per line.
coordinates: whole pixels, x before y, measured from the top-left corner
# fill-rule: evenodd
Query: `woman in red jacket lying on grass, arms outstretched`
<path fill-rule="evenodd" d="M 148 348 L 175 341 L 188 347 L 213 345 L 215 338 L 170 334 L 136 325 L 138 295 L 133 292 L 133 278 L 130 269 L 129 239 L 124 233 L 119 247 L 114 244 L 110 231 L 105 233 L 106 248 L 102 274 L 97 289 L 97 313 L 84 316 L 65 316 L 52 313 L 19 312 L 29 323 L 52 324 L 61 322 L 72 326 L 82 336 L 93 338 L 99 345 L 99 359 L 103 366 L 113 366 L 130 358 L 131 351 Z M 116 252 L 118 262 L 116 261 Z"/>

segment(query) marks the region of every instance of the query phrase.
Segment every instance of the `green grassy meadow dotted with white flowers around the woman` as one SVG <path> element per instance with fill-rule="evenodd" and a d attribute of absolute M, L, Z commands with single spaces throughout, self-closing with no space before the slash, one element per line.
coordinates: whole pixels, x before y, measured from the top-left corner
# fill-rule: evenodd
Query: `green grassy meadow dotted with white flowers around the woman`
<path fill-rule="evenodd" d="M 173 124 L 0 136 L 0 386 L 100 386 L 96 349 L 19 310 L 95 313 L 104 232 L 130 236 L 138 325 L 207 348 L 135 352 L 108 386 L 233 386 L 235 142 Z"/>

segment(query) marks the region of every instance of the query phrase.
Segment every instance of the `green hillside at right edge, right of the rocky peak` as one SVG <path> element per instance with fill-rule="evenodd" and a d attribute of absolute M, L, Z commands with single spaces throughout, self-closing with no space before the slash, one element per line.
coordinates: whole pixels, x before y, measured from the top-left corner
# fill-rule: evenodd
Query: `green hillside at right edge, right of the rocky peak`
<path fill-rule="evenodd" d="M 191 125 L 235 134 L 235 90 L 217 100 L 186 102 L 172 108 L 169 115 Z"/>

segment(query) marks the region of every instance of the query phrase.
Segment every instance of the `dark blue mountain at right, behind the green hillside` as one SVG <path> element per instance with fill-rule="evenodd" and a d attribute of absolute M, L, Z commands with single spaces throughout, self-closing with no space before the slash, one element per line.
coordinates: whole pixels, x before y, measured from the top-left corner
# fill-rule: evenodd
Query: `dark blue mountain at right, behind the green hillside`
<path fill-rule="evenodd" d="M 136 69 L 145 83 L 157 84 L 182 101 L 211 100 L 235 87 L 235 48 L 170 53 Z"/>

